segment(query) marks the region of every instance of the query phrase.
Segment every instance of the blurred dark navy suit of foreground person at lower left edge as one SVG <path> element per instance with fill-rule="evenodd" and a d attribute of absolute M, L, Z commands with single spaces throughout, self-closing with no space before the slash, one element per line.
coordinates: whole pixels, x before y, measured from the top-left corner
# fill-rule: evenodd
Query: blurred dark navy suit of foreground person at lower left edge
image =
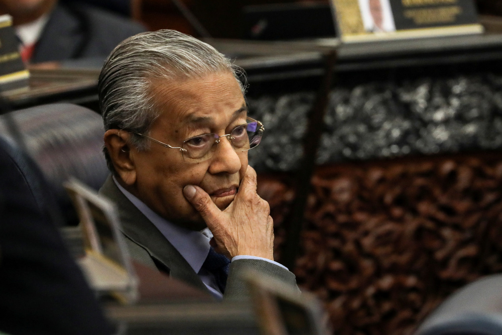
<path fill-rule="evenodd" d="M 109 334 L 48 203 L 40 203 L 47 188 L 33 164 L 0 140 L 0 332 Z"/>

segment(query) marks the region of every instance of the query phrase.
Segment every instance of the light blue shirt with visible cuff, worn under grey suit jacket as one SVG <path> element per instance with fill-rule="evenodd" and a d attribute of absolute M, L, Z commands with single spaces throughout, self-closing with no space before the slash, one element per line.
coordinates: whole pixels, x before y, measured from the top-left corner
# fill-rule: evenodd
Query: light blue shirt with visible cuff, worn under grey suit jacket
<path fill-rule="evenodd" d="M 207 254 L 209 253 L 210 245 L 209 241 L 212 239 L 213 235 L 209 229 L 204 229 L 200 232 L 194 232 L 179 226 L 176 226 L 157 214 L 155 211 L 150 209 L 145 203 L 143 203 L 136 196 L 131 194 L 129 191 L 124 189 L 113 177 L 115 185 L 118 189 L 131 201 L 142 213 L 145 215 L 157 229 L 164 235 L 164 237 L 173 245 L 176 250 L 183 256 L 187 263 L 192 267 L 193 271 L 197 273 L 199 278 L 202 280 L 207 289 L 211 292 L 213 296 L 218 299 L 223 297 L 223 294 L 216 284 L 214 276 L 202 269 L 202 264 L 206 260 Z M 256 257 L 256 256 L 244 256 L 239 255 L 232 258 L 232 262 L 238 259 L 259 259 L 270 263 L 274 263 L 280 267 L 287 268 L 274 262 L 267 258 Z"/>

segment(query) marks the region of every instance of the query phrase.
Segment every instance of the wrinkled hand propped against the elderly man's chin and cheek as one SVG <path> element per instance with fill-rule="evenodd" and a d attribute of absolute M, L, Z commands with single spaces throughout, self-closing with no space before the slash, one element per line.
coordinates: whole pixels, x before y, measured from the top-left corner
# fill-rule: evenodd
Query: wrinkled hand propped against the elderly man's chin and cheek
<path fill-rule="evenodd" d="M 223 211 L 202 188 L 183 189 L 211 230 L 216 252 L 230 259 L 247 255 L 274 260 L 274 221 L 269 203 L 256 193 L 256 183 L 255 169 L 248 166 L 235 198 Z"/>

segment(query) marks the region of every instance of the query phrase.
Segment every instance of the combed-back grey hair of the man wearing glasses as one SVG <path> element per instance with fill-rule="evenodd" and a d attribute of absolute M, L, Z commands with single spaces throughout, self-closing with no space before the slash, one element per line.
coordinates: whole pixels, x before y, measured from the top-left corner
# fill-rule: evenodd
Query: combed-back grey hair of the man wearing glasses
<path fill-rule="evenodd" d="M 154 79 L 185 80 L 216 72 L 231 72 L 245 92 L 244 71 L 212 46 L 174 30 L 159 30 L 122 41 L 108 56 L 99 75 L 99 107 L 104 129 L 148 134 L 159 117 L 150 84 Z M 242 79 L 242 81 L 241 81 Z M 131 145 L 147 150 L 137 135 Z M 110 171 L 114 172 L 104 148 Z"/>

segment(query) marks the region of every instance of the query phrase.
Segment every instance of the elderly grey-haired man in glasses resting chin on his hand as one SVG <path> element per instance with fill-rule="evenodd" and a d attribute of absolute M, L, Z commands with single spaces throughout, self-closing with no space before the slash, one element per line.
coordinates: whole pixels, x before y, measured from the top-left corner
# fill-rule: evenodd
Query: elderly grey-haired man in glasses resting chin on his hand
<path fill-rule="evenodd" d="M 244 271 L 296 287 L 274 262 L 270 208 L 247 165 L 264 128 L 247 117 L 240 73 L 163 30 L 123 41 L 99 78 L 112 171 L 100 192 L 118 205 L 132 257 L 225 298 L 245 296 Z"/>

